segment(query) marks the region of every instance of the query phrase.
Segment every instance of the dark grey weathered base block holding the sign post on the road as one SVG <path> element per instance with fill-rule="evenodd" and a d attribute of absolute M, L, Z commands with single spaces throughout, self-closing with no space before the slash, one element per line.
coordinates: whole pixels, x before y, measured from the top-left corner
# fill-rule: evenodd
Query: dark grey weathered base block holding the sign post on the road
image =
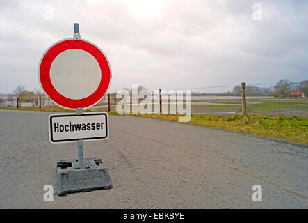
<path fill-rule="evenodd" d="M 60 160 L 57 170 L 58 195 L 113 187 L 108 169 L 99 158 L 83 159 L 83 165 L 79 165 L 78 160 Z"/>

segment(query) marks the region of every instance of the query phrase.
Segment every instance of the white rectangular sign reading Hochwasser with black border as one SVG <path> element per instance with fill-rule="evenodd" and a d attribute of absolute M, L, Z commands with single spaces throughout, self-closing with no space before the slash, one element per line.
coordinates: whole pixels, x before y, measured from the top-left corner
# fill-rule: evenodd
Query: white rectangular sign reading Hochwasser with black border
<path fill-rule="evenodd" d="M 77 114 L 51 114 L 49 116 L 49 141 L 99 140 L 108 138 L 106 112 Z"/>

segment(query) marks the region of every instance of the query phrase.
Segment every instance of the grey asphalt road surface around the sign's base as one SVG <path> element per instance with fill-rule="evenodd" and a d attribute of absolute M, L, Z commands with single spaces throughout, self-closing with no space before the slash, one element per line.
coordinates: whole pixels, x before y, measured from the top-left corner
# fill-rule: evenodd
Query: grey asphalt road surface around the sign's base
<path fill-rule="evenodd" d="M 113 189 L 59 197 L 56 162 L 77 148 L 49 143 L 49 114 L 0 110 L 0 208 L 308 207 L 307 145 L 124 116 L 109 116 L 108 140 L 84 146 L 84 157 L 103 158 Z"/>

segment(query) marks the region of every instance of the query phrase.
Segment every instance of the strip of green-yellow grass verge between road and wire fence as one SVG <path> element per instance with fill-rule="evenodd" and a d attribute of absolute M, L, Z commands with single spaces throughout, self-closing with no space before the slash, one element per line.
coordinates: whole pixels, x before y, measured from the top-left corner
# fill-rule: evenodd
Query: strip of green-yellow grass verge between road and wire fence
<path fill-rule="evenodd" d="M 116 112 L 110 114 L 117 115 Z M 178 121 L 179 115 L 125 115 L 154 118 L 165 121 Z M 283 139 L 300 144 L 308 144 L 308 116 L 254 115 L 245 118 L 241 115 L 193 114 L 186 124 L 254 134 L 273 139 Z"/>

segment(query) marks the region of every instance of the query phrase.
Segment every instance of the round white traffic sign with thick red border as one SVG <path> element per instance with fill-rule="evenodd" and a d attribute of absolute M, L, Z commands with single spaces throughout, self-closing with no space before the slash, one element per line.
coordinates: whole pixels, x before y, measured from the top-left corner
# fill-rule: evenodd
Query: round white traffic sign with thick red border
<path fill-rule="evenodd" d="M 102 99 L 111 67 L 99 47 L 87 40 L 60 40 L 44 52 L 38 79 L 50 99 L 67 109 L 86 108 Z"/>

